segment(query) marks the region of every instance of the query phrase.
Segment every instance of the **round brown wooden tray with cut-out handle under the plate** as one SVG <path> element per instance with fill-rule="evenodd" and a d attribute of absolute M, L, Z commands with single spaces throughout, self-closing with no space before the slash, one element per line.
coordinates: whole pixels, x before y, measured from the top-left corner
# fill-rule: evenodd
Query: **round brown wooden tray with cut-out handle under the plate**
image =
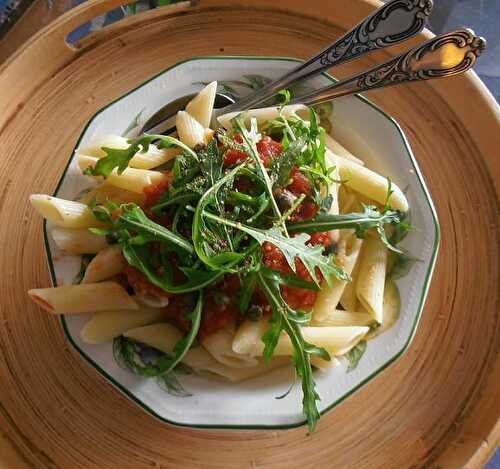
<path fill-rule="evenodd" d="M 410 140 L 437 207 L 441 250 L 409 351 L 313 436 L 164 425 L 88 367 L 57 319 L 28 301 L 27 289 L 49 285 L 28 196 L 53 191 L 97 109 L 192 56 L 308 57 L 376 4 L 202 0 L 122 21 L 78 50 L 64 45 L 71 29 L 120 3 L 89 0 L 0 69 L 0 89 L 9 90 L 0 96 L 0 443 L 10 448 L 0 460 L 10 454 L 8 467 L 37 468 L 479 467 L 499 432 L 500 113 L 474 74 L 369 96 Z"/>

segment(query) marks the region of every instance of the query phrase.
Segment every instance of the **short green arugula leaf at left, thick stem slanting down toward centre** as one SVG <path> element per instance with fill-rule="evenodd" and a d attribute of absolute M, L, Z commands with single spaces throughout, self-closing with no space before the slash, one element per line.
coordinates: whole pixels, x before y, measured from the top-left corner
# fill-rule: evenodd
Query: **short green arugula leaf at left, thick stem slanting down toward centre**
<path fill-rule="evenodd" d="M 164 226 L 150 220 L 138 205 L 124 204 L 121 206 L 121 210 L 122 212 L 115 222 L 116 229 L 132 229 L 139 235 L 147 235 L 144 238 L 146 241 L 168 242 L 188 254 L 194 254 L 191 243 Z"/>

